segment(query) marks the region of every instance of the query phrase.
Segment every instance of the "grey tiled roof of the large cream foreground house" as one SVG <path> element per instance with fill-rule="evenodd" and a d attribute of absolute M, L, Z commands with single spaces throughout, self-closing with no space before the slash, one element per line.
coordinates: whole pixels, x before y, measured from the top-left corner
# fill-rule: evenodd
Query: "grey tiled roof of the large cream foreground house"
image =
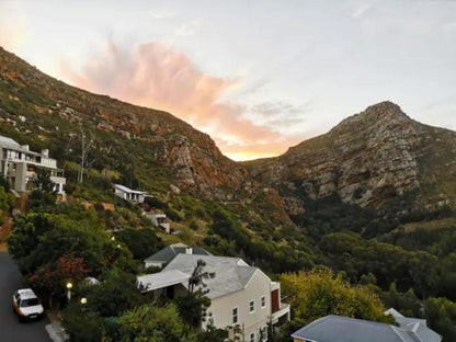
<path fill-rule="evenodd" d="M 179 254 L 162 272 L 179 270 L 192 274 L 198 260 L 206 263 L 205 272 L 214 274 L 214 277 L 205 280 L 206 289 L 209 290 L 206 296 L 210 299 L 244 288 L 253 274 L 259 271 L 258 267 L 249 266 L 240 258 Z"/>

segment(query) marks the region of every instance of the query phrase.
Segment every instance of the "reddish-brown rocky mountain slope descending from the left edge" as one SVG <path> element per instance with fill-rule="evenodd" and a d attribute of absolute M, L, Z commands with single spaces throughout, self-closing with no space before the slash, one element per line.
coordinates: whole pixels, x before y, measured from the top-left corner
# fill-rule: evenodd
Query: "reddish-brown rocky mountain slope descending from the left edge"
<path fill-rule="evenodd" d="M 223 156 L 207 134 L 173 115 L 70 87 L 1 47 L 0 122 L 0 134 L 48 146 L 59 160 L 76 163 L 80 136 L 93 134 L 90 164 L 149 191 L 174 183 L 226 198 L 247 179 L 244 168 Z"/>

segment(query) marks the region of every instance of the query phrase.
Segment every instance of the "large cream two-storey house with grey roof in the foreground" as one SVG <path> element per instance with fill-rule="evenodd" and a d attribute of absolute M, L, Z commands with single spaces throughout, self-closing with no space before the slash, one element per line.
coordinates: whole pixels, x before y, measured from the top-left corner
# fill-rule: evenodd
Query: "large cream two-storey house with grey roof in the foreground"
<path fill-rule="evenodd" d="M 207 311 L 215 327 L 238 326 L 242 341 L 256 342 L 267 340 L 270 321 L 281 326 L 289 320 L 289 305 L 281 300 L 281 284 L 240 258 L 178 254 L 160 273 L 138 276 L 138 285 L 142 293 L 155 292 L 168 298 L 185 296 L 198 260 L 206 263 L 204 271 L 209 275 L 205 281 L 209 290 L 206 296 L 210 298 Z"/>

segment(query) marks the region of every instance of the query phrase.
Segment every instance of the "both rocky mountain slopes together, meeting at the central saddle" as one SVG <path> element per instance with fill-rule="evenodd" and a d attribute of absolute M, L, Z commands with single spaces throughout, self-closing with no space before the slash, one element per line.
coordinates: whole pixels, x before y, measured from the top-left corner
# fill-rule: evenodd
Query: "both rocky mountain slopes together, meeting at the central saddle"
<path fill-rule="evenodd" d="M 93 135 L 87 176 L 95 183 L 107 178 L 153 193 L 172 189 L 248 212 L 256 201 L 288 224 L 284 208 L 303 214 L 308 200 L 339 196 L 376 209 L 401 202 L 397 210 L 434 210 L 456 200 L 456 133 L 420 124 L 391 102 L 280 157 L 237 163 L 169 113 L 68 86 L 0 48 L 0 134 L 49 148 L 70 179 L 81 136 Z M 250 218 L 261 217 L 253 212 Z"/>

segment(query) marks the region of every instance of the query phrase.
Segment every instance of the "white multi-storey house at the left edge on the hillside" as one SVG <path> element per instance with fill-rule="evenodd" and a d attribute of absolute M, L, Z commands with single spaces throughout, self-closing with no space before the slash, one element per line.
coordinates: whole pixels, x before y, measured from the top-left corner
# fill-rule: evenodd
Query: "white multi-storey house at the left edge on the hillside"
<path fill-rule="evenodd" d="M 20 145 L 11 138 L 0 136 L 0 175 L 10 181 L 13 190 L 32 191 L 38 169 L 49 172 L 54 191 L 65 200 L 64 171 L 57 168 L 57 160 L 49 158 L 48 149 L 43 149 L 41 153 L 34 152 L 29 145 Z"/>

